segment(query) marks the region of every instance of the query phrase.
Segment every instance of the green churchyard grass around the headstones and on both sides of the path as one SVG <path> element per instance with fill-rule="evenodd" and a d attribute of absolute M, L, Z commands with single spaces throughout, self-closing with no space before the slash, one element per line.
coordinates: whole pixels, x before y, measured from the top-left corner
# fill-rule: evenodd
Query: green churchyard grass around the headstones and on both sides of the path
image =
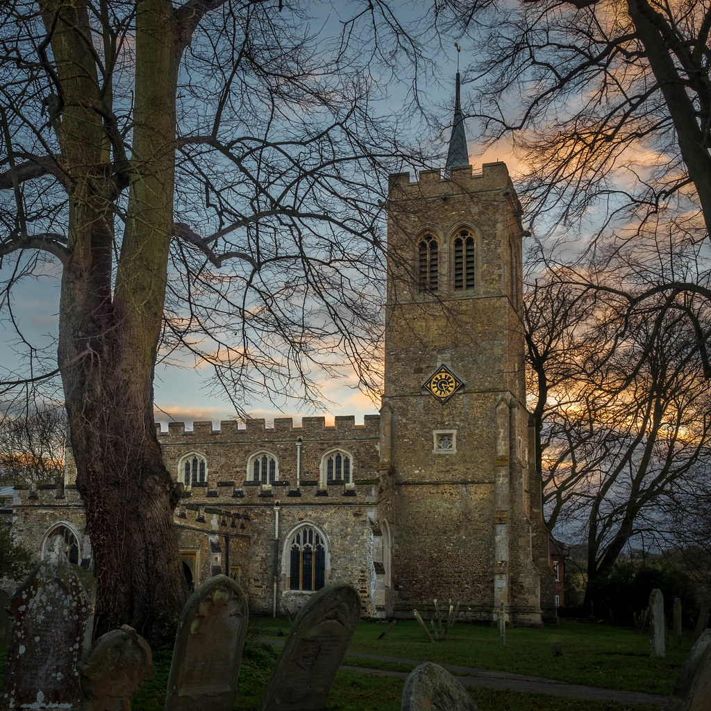
<path fill-rule="evenodd" d="M 545 629 L 508 629 L 506 646 L 498 644 L 493 627 L 458 623 L 447 642 L 429 643 L 417 622 L 399 621 L 383 639 L 387 624 L 362 621 L 348 648 L 350 652 L 434 661 L 473 668 L 535 675 L 573 684 L 669 695 L 691 646 L 685 633 L 680 651 L 667 649 L 664 658 L 650 656 L 649 636 L 633 629 L 562 621 Z M 284 641 L 289 632 L 285 619 L 254 618 L 242 656 L 235 709 L 257 710 L 276 666 L 280 648 L 260 640 Z M 553 656 L 552 644 L 562 651 Z M 161 711 L 164 707 L 172 650 L 154 651 L 156 677 L 146 683 L 132 703 L 133 711 Z M 5 650 L 0 648 L 0 671 Z M 409 672 L 412 665 L 348 656 L 346 666 Z M 404 679 L 365 675 L 341 669 L 331 690 L 328 711 L 398 711 Z M 658 707 L 575 700 L 548 695 L 522 694 L 486 688 L 471 689 L 479 711 L 651 711 Z"/>

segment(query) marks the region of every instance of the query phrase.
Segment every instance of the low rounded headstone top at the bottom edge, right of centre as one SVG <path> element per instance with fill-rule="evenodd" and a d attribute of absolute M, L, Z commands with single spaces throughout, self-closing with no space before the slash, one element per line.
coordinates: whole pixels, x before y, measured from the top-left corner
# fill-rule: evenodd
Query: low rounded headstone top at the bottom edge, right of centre
<path fill-rule="evenodd" d="M 400 711 L 477 711 L 466 689 L 441 666 L 425 662 L 412 670 Z"/>

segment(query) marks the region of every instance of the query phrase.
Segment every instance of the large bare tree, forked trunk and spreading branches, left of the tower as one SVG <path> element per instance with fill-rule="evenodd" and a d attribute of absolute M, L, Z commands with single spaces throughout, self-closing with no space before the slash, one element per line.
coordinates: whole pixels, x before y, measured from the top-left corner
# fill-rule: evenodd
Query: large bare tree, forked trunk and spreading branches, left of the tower
<path fill-rule="evenodd" d="M 4 305 L 60 265 L 58 371 L 100 630 L 156 638 L 185 592 L 156 358 L 208 360 L 242 407 L 255 388 L 314 392 L 336 349 L 370 382 L 380 181 L 409 154 L 378 97 L 421 49 L 385 4 L 346 12 L 329 38 L 297 1 L 0 9 Z M 53 375 L 29 355 L 27 377 Z"/>

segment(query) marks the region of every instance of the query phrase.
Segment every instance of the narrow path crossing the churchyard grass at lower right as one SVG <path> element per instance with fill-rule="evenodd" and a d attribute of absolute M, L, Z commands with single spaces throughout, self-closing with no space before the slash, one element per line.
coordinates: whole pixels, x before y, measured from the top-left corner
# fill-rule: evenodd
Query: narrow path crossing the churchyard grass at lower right
<path fill-rule="evenodd" d="M 357 652 L 346 653 L 348 657 L 358 659 L 372 659 L 373 661 L 393 662 L 398 664 L 408 664 L 416 667 L 422 662 L 415 659 L 400 659 L 397 657 L 385 657 L 378 654 L 365 654 Z M 666 701 L 665 696 L 646 694 L 634 691 L 619 691 L 616 689 L 601 689 L 594 686 L 578 686 L 577 684 L 567 684 L 563 681 L 543 679 L 537 676 L 524 674 L 509 674 L 503 671 L 493 671 L 491 669 L 475 669 L 471 667 L 456 666 L 454 664 L 442 664 L 442 667 L 450 671 L 463 686 L 486 686 L 492 689 L 503 689 L 509 691 L 519 691 L 526 694 L 549 694 L 552 696 L 567 696 L 578 699 L 598 699 L 602 701 L 619 701 L 629 704 L 650 704 L 663 706 Z M 386 671 L 383 669 L 373 669 L 363 666 L 349 666 L 344 664 L 343 669 L 358 671 L 363 674 L 375 674 L 378 676 L 392 676 L 396 678 L 407 678 L 409 672 Z"/>

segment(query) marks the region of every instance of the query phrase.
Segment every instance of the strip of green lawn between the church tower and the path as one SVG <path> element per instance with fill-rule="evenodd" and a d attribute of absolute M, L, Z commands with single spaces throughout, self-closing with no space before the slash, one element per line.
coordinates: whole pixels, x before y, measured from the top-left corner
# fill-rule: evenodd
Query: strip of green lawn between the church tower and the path
<path fill-rule="evenodd" d="M 493 626 L 459 623 L 446 642 L 426 641 L 415 620 L 400 621 L 383 639 L 385 623 L 362 621 L 348 648 L 381 656 L 494 669 L 515 674 L 557 679 L 570 684 L 668 695 L 691 647 L 686 635 L 680 651 L 667 649 L 664 658 L 651 658 L 647 632 L 633 629 L 562 621 L 545 629 L 508 629 L 506 646 L 498 644 Z M 283 619 L 258 618 L 252 629 L 263 638 L 277 639 L 289 631 Z M 553 656 L 556 642 L 561 656 Z M 346 656 L 351 666 L 410 671 L 411 665 L 378 662 Z"/>

